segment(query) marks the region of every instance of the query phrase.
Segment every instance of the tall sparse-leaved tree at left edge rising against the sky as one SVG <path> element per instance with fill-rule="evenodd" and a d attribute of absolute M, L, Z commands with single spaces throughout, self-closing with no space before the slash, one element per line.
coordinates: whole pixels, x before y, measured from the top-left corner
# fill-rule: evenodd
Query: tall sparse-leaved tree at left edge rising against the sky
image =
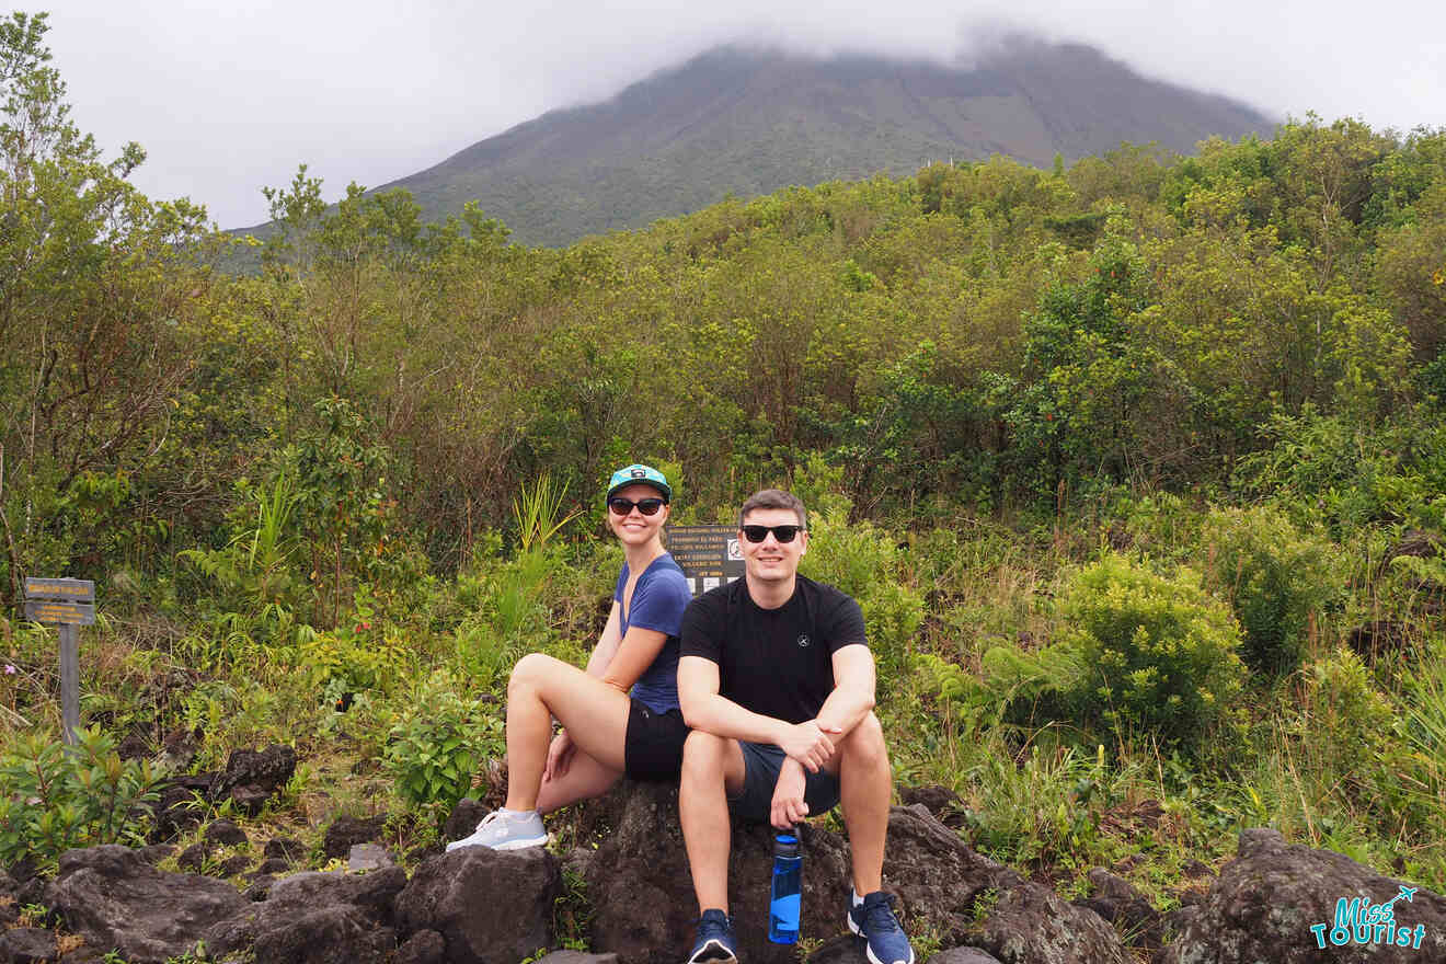
<path fill-rule="evenodd" d="M 0 22 L 0 539 L 4 580 L 71 565 L 87 493 L 155 455 L 188 377 L 205 211 L 152 204 L 69 120 L 45 14 Z M 106 480 L 110 480 L 107 483 Z M 94 546 L 88 549 L 94 554 Z M 95 559 L 91 559 L 93 562 Z"/>

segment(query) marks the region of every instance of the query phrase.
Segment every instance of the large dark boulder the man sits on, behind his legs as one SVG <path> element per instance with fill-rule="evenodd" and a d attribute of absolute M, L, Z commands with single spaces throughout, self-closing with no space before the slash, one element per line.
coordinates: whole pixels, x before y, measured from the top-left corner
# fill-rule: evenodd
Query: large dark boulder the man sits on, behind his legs
<path fill-rule="evenodd" d="M 678 791 L 662 783 L 623 788 L 613 832 L 587 861 L 593 950 L 615 952 L 623 964 L 687 957 L 698 908 L 678 827 Z M 840 837 L 803 827 L 803 934 L 827 938 L 846 928 L 850 876 Z M 739 960 L 797 964 L 792 945 L 768 941 L 768 900 L 774 834 L 768 827 L 733 828 L 729 857 L 729 911 Z"/>

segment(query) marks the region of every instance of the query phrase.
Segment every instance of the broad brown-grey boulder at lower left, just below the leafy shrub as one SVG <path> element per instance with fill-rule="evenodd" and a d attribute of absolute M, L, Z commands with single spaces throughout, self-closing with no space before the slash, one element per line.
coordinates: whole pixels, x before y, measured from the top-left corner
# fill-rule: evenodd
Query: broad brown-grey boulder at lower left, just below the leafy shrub
<path fill-rule="evenodd" d="M 130 964 L 194 951 L 207 931 L 252 906 L 228 883 L 163 873 L 117 844 L 61 854 L 45 902 L 85 944 L 114 948 Z"/>

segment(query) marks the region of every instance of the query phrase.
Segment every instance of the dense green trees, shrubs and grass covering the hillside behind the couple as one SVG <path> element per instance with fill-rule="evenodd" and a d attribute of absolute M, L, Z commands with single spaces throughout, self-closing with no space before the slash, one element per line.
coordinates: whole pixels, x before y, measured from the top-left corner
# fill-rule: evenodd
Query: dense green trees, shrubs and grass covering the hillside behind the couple
<path fill-rule="evenodd" d="M 1270 824 L 1446 886 L 1446 133 L 936 165 L 561 250 L 302 169 L 234 277 L 42 38 L 0 25 L 0 854 L 143 832 L 110 747 L 175 730 L 298 747 L 265 821 L 435 835 L 516 655 L 590 645 L 603 480 L 646 460 L 678 520 L 804 494 L 898 780 L 979 848 L 1165 893 Z M 98 585 L 81 757 L 26 575 Z"/>

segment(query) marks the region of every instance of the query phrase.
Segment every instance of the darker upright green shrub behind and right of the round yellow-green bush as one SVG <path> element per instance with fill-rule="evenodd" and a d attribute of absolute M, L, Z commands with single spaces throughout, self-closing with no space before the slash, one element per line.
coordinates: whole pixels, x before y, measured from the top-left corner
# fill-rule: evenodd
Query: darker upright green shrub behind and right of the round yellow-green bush
<path fill-rule="evenodd" d="M 1202 541 L 1210 587 L 1244 630 L 1245 665 L 1271 676 L 1293 672 L 1312 613 L 1340 594 L 1330 543 L 1265 506 L 1212 512 Z"/>

